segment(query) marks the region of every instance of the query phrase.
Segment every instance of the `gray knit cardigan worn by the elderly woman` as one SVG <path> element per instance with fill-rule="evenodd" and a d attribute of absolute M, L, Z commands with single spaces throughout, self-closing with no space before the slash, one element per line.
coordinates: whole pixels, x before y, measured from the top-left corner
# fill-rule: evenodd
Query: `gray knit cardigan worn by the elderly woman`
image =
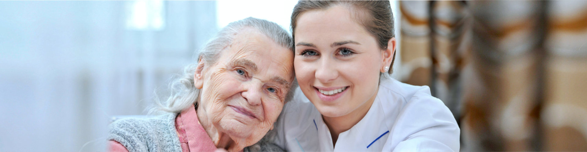
<path fill-rule="evenodd" d="M 176 133 L 177 113 L 153 118 L 127 118 L 110 123 L 108 140 L 118 141 L 129 151 L 181 151 Z M 244 151 L 284 151 L 271 143 L 275 132 L 269 131 L 261 141 Z"/>

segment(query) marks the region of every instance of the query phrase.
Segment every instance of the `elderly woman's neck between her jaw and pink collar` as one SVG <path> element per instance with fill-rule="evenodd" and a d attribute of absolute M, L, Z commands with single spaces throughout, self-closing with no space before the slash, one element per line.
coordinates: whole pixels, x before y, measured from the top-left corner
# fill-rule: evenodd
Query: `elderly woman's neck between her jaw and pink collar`
<path fill-rule="evenodd" d="M 244 146 L 239 146 L 239 144 L 235 144 L 234 141 L 228 136 L 228 134 L 222 133 L 218 131 L 217 127 L 214 126 L 210 117 L 208 117 L 206 110 L 203 106 L 198 106 L 195 110 L 198 115 L 198 120 L 200 120 L 200 124 L 212 139 L 212 143 L 217 148 L 224 148 L 228 151 L 242 151 Z"/>

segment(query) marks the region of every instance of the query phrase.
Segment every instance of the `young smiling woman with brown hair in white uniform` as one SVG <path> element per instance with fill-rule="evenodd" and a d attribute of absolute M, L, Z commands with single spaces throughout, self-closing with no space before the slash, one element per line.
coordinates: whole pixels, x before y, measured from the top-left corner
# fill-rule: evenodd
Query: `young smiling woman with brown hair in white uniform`
<path fill-rule="evenodd" d="M 397 46 L 389 1 L 299 1 L 291 23 L 299 90 L 278 120 L 275 144 L 286 151 L 459 150 L 460 129 L 430 88 L 389 78 Z"/>

